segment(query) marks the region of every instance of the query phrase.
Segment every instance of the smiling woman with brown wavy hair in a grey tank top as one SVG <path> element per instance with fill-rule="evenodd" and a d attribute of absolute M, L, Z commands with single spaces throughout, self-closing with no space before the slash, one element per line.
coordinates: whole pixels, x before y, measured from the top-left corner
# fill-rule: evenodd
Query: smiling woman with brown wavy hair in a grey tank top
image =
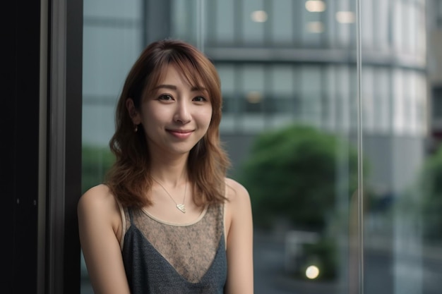
<path fill-rule="evenodd" d="M 116 161 L 78 202 L 95 294 L 253 293 L 247 190 L 226 178 L 212 63 L 178 40 L 129 72 L 109 142 Z"/>

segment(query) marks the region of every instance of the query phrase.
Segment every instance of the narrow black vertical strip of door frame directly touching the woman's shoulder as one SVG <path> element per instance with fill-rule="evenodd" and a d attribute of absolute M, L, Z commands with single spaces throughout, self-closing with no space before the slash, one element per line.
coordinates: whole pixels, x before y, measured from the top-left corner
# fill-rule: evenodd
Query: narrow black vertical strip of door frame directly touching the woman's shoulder
<path fill-rule="evenodd" d="M 81 195 L 83 102 L 83 1 L 69 0 L 66 39 L 66 170 L 64 193 L 64 292 L 80 293 L 77 202 Z"/>

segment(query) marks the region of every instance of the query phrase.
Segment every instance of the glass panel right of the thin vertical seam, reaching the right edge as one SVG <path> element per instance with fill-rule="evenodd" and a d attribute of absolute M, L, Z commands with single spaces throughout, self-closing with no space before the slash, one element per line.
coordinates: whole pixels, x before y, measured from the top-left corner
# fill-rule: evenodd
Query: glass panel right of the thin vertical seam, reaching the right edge
<path fill-rule="evenodd" d="M 372 2 L 373 16 L 362 22 L 362 39 L 374 38 L 374 44 L 362 42 L 363 150 L 369 169 L 364 293 L 438 293 L 442 166 L 441 127 L 434 114 L 441 106 L 435 89 L 442 81 L 442 59 L 440 39 L 428 47 L 426 39 L 441 35 L 442 1 Z"/>

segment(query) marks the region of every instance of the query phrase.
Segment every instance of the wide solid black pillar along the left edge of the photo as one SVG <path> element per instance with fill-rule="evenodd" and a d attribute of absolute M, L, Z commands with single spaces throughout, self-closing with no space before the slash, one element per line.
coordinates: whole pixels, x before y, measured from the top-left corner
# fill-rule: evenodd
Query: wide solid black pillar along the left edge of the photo
<path fill-rule="evenodd" d="M 40 1 L 1 9 L 1 293 L 37 291 Z"/>

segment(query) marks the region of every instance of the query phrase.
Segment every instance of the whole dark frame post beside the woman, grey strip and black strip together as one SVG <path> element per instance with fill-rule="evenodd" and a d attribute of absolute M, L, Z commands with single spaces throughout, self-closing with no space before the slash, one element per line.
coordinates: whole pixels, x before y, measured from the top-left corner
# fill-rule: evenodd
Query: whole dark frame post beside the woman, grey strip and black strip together
<path fill-rule="evenodd" d="M 76 207 L 81 194 L 83 1 L 50 1 L 47 286 L 80 293 Z"/>

